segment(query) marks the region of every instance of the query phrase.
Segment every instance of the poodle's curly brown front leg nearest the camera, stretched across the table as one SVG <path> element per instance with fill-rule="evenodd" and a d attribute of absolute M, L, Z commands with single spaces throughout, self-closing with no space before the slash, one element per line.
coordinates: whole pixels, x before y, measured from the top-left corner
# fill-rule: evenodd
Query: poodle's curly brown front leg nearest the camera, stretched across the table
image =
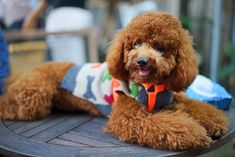
<path fill-rule="evenodd" d="M 208 147 L 206 130 L 187 114 L 151 114 L 134 99 L 120 94 L 104 130 L 122 141 L 157 149 L 182 150 Z"/>

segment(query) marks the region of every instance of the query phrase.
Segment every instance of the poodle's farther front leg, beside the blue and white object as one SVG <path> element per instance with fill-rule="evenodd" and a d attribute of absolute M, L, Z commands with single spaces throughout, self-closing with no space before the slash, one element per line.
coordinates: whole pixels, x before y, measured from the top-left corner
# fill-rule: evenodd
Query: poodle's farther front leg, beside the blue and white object
<path fill-rule="evenodd" d="M 183 94 L 175 94 L 176 109 L 188 113 L 196 119 L 212 137 L 221 137 L 228 131 L 228 119 L 214 106 L 192 100 Z"/>

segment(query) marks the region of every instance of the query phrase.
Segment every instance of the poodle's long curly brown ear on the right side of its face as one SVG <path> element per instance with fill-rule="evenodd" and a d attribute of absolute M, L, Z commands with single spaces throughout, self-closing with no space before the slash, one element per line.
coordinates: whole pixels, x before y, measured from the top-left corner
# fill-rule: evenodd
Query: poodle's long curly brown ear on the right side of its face
<path fill-rule="evenodd" d="M 192 38 L 187 31 L 182 31 L 181 41 L 176 55 L 176 67 L 166 82 L 167 88 L 176 92 L 187 89 L 198 73 Z"/>

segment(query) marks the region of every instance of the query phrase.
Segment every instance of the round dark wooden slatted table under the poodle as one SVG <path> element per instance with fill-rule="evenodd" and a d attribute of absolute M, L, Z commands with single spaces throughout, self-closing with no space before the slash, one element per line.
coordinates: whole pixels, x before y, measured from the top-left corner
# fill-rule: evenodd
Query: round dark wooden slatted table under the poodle
<path fill-rule="evenodd" d="M 225 112 L 229 132 L 208 149 L 172 152 L 123 143 L 103 133 L 106 118 L 54 111 L 33 122 L 1 121 L 0 154 L 6 156 L 196 156 L 212 151 L 235 136 L 235 108 Z"/>

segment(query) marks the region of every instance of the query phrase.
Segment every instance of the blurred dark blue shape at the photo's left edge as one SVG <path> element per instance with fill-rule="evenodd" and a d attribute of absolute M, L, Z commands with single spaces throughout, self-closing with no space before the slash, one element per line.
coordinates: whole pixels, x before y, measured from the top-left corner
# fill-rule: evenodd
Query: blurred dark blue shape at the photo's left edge
<path fill-rule="evenodd" d="M 4 78 L 7 77 L 9 73 L 10 69 L 7 42 L 0 28 L 0 94 L 3 92 Z"/>

